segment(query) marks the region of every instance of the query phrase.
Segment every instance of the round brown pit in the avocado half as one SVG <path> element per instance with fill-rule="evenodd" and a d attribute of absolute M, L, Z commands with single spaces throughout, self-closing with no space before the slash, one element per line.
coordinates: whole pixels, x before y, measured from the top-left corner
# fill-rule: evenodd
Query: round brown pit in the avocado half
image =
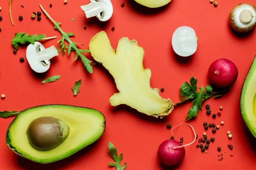
<path fill-rule="evenodd" d="M 67 139 L 69 127 L 60 119 L 51 116 L 33 120 L 27 129 L 27 137 L 37 150 L 50 150 Z"/>

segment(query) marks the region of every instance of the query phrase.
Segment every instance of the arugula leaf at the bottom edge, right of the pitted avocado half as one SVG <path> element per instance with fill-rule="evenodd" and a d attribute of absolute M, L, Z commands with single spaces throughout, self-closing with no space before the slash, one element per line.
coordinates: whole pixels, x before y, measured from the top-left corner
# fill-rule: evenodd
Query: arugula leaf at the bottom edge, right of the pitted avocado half
<path fill-rule="evenodd" d="M 126 162 L 124 163 L 124 165 L 122 167 L 120 165 L 121 161 L 122 161 L 123 154 L 121 153 L 120 156 L 118 156 L 117 150 L 111 142 L 108 143 L 108 153 L 109 153 L 110 157 L 116 162 L 116 163 L 111 163 L 111 162 L 108 163 L 109 166 L 116 167 L 116 170 L 124 170 L 126 168 Z"/>

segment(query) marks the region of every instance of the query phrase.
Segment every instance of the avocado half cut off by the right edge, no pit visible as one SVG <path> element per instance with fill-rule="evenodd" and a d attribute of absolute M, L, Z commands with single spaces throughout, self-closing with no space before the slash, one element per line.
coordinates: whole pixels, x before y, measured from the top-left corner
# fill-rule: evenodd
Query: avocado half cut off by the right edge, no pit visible
<path fill-rule="evenodd" d="M 244 80 L 240 107 L 244 122 L 256 138 L 256 56 Z"/>

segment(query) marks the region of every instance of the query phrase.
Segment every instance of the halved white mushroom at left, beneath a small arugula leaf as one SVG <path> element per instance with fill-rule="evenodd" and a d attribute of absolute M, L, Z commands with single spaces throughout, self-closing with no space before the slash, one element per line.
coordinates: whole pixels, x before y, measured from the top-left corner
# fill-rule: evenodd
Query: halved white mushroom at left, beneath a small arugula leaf
<path fill-rule="evenodd" d="M 50 59 L 58 56 L 58 50 L 52 45 L 49 48 L 44 48 L 40 42 L 29 44 L 26 49 L 26 58 L 30 67 L 37 73 L 44 73 L 50 68 Z"/>

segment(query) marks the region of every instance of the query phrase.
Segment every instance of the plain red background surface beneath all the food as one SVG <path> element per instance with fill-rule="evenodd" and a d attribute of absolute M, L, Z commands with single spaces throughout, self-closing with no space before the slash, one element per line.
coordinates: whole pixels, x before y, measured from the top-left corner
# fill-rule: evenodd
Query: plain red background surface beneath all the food
<path fill-rule="evenodd" d="M 93 74 L 84 70 L 82 62 L 73 61 L 75 54 L 69 57 L 58 57 L 52 60 L 52 65 L 43 76 L 33 74 L 26 61 L 26 47 L 21 47 L 17 54 L 13 54 L 11 40 L 15 32 L 29 34 L 47 34 L 47 37 L 61 34 L 54 31 L 53 24 L 44 17 L 42 20 L 31 20 L 33 11 L 39 11 L 38 0 L 14 0 L 12 16 L 15 26 L 11 25 L 8 13 L 8 0 L 1 0 L 0 15 L 0 94 L 6 99 L 0 99 L 0 110 L 23 110 L 29 107 L 44 104 L 67 104 L 95 108 L 106 117 L 104 135 L 92 147 L 81 150 L 67 159 L 52 164 L 37 164 L 16 156 L 5 144 L 7 127 L 13 118 L 0 119 L 0 169 L 63 169 L 63 170 L 110 170 L 108 162 L 108 142 L 113 142 L 118 153 L 123 153 L 122 163 L 127 162 L 127 170 L 162 170 L 182 169 L 196 170 L 201 168 L 215 169 L 255 169 L 256 148 L 254 139 L 244 127 L 239 109 L 240 91 L 256 54 L 255 30 L 249 34 L 237 34 L 228 24 L 230 9 L 242 3 L 241 0 L 218 0 L 215 8 L 208 0 L 173 0 L 168 6 L 160 9 L 147 9 L 138 6 L 132 0 L 112 0 L 114 14 L 111 20 L 102 24 L 96 18 L 86 19 L 80 6 L 89 0 L 69 0 L 64 5 L 63 0 L 41 0 L 42 6 L 66 32 L 76 33 L 73 41 L 84 44 L 87 48 L 91 38 L 99 31 L 106 31 L 113 48 L 121 37 L 136 39 L 145 49 L 144 67 L 152 71 L 151 87 L 165 88 L 161 93 L 164 98 L 178 102 L 180 85 L 189 81 L 191 76 L 198 78 L 198 87 L 209 84 L 207 71 L 209 65 L 219 58 L 231 59 L 239 69 L 239 76 L 233 85 L 232 91 L 221 99 L 209 99 L 208 103 L 213 113 L 223 106 L 221 117 L 215 120 L 207 116 L 205 108 L 199 112 L 195 120 L 190 121 L 196 133 L 204 133 L 203 122 L 215 122 L 217 125 L 224 121 L 224 126 L 212 135 L 208 130 L 208 137 L 215 137 L 210 144 L 209 153 L 201 153 L 196 149 L 196 143 L 186 147 L 186 156 L 183 162 L 175 167 L 165 167 L 157 159 L 157 148 L 161 142 L 169 139 L 171 130 L 166 129 L 167 123 L 173 126 L 185 122 L 186 113 L 192 103 L 176 107 L 166 119 L 154 119 L 129 107 L 111 107 L 108 99 L 117 92 L 112 77 L 103 68 L 93 67 Z M 253 3 L 253 0 L 247 0 Z M 49 8 L 52 3 L 52 8 Z M 121 8 L 120 4 L 125 3 Z M 24 8 L 20 6 L 23 5 Z M 19 21 L 23 15 L 23 21 Z M 70 20 L 76 20 L 71 22 Z M 179 26 L 191 26 L 198 36 L 198 50 L 192 58 L 184 63 L 177 60 L 172 50 L 172 33 Z M 84 30 L 84 26 L 87 30 Z M 111 31 L 111 27 L 115 31 Z M 44 42 L 45 47 L 56 45 L 57 39 Z M 100 50 L 100 49 L 99 49 Z M 20 63 L 19 58 L 25 62 Z M 90 54 L 87 54 L 90 57 Z M 53 83 L 42 85 L 41 81 L 47 77 L 61 75 L 61 79 Z M 82 80 L 81 91 L 74 97 L 71 86 L 79 79 Z M 76 116 L 76 115 L 74 115 Z M 227 130 L 233 134 L 233 139 L 227 138 Z M 184 137 L 184 143 L 192 141 L 192 132 L 183 125 L 174 131 L 176 139 Z M 75 139 L 74 139 L 75 140 Z M 227 144 L 233 144 L 230 151 Z M 227 152 L 223 161 L 217 161 L 217 147 L 222 147 L 222 153 Z M 233 157 L 230 157 L 233 154 Z M 114 170 L 114 168 L 112 168 Z"/>

